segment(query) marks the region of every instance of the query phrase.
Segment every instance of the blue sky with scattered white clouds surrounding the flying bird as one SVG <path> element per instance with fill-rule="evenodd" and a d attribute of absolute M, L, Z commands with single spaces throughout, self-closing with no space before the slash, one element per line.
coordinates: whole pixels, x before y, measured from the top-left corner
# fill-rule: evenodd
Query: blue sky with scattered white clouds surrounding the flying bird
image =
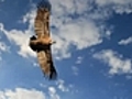
<path fill-rule="evenodd" d="M 28 46 L 40 0 L 0 0 L 0 99 L 131 99 L 132 0 L 50 0 L 57 80 Z"/>

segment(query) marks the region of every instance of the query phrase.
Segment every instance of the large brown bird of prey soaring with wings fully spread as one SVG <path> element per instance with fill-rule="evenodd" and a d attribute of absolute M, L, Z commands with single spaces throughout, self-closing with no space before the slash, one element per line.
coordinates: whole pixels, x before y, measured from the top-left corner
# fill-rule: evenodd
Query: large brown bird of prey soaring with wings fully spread
<path fill-rule="evenodd" d="M 36 52 L 37 61 L 44 76 L 48 79 L 55 79 L 57 73 L 54 67 L 51 51 L 51 45 L 55 42 L 50 37 L 50 3 L 40 3 L 34 20 L 35 35 L 30 38 L 30 47 Z"/>

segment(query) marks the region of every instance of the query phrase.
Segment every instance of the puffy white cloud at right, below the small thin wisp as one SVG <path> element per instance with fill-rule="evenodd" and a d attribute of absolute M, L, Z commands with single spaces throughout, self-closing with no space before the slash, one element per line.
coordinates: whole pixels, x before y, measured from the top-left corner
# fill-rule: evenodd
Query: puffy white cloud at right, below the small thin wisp
<path fill-rule="evenodd" d="M 94 57 L 108 64 L 110 66 L 109 73 L 112 75 L 132 73 L 132 61 L 123 58 L 122 55 L 119 55 L 112 50 L 105 50 L 100 53 L 96 53 Z"/>

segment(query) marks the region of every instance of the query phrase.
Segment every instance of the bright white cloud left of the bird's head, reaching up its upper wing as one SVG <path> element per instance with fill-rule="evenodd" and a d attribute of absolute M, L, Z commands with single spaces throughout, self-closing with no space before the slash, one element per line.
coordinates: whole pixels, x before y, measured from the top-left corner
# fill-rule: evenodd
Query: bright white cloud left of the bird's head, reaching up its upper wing
<path fill-rule="evenodd" d="M 23 16 L 22 22 L 29 23 L 29 28 L 23 31 L 16 30 L 16 29 L 7 31 L 4 29 L 4 25 L 2 23 L 0 23 L 0 31 L 6 34 L 6 36 L 12 44 L 19 46 L 19 51 L 16 51 L 18 54 L 21 55 L 22 57 L 26 57 L 26 58 L 29 56 L 31 56 L 31 57 L 36 56 L 36 54 L 29 46 L 29 40 L 30 40 L 31 35 L 33 35 L 33 33 L 34 33 L 34 31 L 33 31 L 34 18 L 35 18 L 34 9 L 31 10 L 29 13 L 26 13 Z"/>

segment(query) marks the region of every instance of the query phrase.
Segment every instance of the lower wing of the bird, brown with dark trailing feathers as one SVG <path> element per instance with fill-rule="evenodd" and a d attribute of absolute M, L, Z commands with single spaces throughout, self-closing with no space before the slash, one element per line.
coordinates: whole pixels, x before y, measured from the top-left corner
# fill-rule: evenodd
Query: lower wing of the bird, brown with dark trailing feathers
<path fill-rule="evenodd" d="M 37 59 L 44 76 L 48 79 L 56 79 L 57 73 L 53 64 L 51 51 L 37 52 Z"/>

